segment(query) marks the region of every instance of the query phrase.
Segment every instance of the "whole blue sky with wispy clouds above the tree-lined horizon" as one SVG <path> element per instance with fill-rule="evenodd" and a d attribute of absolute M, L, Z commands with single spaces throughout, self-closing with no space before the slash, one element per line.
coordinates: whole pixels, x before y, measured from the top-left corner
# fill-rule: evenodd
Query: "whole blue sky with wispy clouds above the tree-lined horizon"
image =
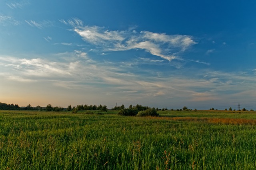
<path fill-rule="evenodd" d="M 0 102 L 256 109 L 254 0 L 1 0 Z"/>

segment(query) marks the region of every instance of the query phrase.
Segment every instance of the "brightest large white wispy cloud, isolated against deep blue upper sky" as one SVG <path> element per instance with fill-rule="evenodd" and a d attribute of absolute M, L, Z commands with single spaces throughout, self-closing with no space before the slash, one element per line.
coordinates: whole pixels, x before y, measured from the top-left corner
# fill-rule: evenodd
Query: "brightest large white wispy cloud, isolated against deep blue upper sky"
<path fill-rule="evenodd" d="M 84 41 L 96 45 L 102 51 L 128 51 L 143 49 L 152 55 L 172 61 L 177 59 L 176 54 L 184 52 L 196 44 L 192 36 L 166 35 L 150 31 L 124 30 L 111 31 L 98 26 L 81 26 L 81 21 L 71 22 L 60 20 L 66 25 L 74 26 L 74 31 Z M 76 20 L 75 20 L 76 21 Z M 74 23 L 74 24 L 73 24 Z"/>

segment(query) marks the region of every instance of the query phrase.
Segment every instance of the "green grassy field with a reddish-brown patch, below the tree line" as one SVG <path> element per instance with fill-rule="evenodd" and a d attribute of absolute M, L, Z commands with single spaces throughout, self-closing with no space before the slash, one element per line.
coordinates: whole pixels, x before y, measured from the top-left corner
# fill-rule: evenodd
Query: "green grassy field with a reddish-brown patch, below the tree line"
<path fill-rule="evenodd" d="M 256 169 L 256 112 L 0 111 L 0 169 Z"/>

